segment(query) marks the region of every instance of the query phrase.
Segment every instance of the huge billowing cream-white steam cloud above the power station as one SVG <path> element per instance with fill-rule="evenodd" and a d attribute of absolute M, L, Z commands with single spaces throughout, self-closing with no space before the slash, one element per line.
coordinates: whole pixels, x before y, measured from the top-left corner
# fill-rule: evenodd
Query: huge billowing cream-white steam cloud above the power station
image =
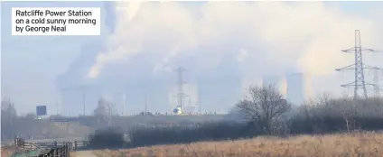
<path fill-rule="evenodd" d="M 207 2 L 198 7 L 118 2 L 117 19 L 107 51 L 98 54 L 89 78 L 136 55 L 150 58 L 157 73 L 189 59 L 201 70 L 214 68 L 231 53 L 245 74 L 298 68 L 311 76 L 328 75 L 352 61 L 340 50 L 352 47 L 354 30 L 360 29 L 363 43 L 371 46 L 381 31 L 378 18 L 344 14 L 320 2 Z"/>

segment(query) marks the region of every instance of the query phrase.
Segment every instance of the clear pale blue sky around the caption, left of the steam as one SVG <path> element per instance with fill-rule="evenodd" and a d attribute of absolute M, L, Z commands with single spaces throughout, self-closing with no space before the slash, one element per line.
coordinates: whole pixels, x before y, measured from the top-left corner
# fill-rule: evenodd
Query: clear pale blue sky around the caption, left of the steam
<path fill-rule="evenodd" d="M 34 112 L 34 107 L 47 105 L 54 113 L 57 94 L 56 79 L 65 73 L 81 53 L 81 45 L 99 44 L 107 31 L 102 25 L 99 37 L 79 36 L 12 36 L 11 7 L 101 7 L 103 2 L 1 2 L 1 94 L 10 97 L 20 113 Z M 191 5 L 198 7 L 204 4 Z M 383 8 L 383 2 L 329 2 L 339 5 L 345 14 L 369 16 L 370 8 Z M 383 18 L 381 18 L 383 19 Z M 105 21 L 102 21 L 105 23 Z M 94 59 L 92 59 L 94 60 Z M 79 60 L 77 60 L 79 61 Z M 78 109 L 80 109 L 79 107 Z"/>

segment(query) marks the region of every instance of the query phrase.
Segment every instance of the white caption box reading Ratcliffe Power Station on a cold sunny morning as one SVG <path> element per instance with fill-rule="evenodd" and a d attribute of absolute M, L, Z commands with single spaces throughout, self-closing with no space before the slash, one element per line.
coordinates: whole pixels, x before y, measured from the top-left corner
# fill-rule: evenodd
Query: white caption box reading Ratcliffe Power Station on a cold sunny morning
<path fill-rule="evenodd" d="M 100 35 L 99 7 L 14 7 L 12 35 Z"/>

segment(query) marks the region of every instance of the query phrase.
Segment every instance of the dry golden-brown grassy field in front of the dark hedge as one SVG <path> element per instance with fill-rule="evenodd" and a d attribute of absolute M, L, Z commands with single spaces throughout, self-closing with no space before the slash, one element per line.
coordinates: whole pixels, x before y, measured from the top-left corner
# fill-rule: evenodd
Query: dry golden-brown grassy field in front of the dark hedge
<path fill-rule="evenodd" d="M 257 137 L 248 140 L 158 145 L 126 150 L 101 150 L 112 156 L 383 156 L 383 134 L 301 135 L 289 138 Z"/>

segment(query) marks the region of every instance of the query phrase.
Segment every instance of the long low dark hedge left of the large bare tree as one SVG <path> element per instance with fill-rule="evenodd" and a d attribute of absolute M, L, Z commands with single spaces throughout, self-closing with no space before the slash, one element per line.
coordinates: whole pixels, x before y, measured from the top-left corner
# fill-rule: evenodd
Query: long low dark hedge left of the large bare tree
<path fill-rule="evenodd" d="M 130 130 L 132 147 L 154 144 L 193 143 L 198 141 L 235 140 L 252 137 L 254 126 L 237 122 L 215 122 L 195 125 L 141 126 Z"/>

